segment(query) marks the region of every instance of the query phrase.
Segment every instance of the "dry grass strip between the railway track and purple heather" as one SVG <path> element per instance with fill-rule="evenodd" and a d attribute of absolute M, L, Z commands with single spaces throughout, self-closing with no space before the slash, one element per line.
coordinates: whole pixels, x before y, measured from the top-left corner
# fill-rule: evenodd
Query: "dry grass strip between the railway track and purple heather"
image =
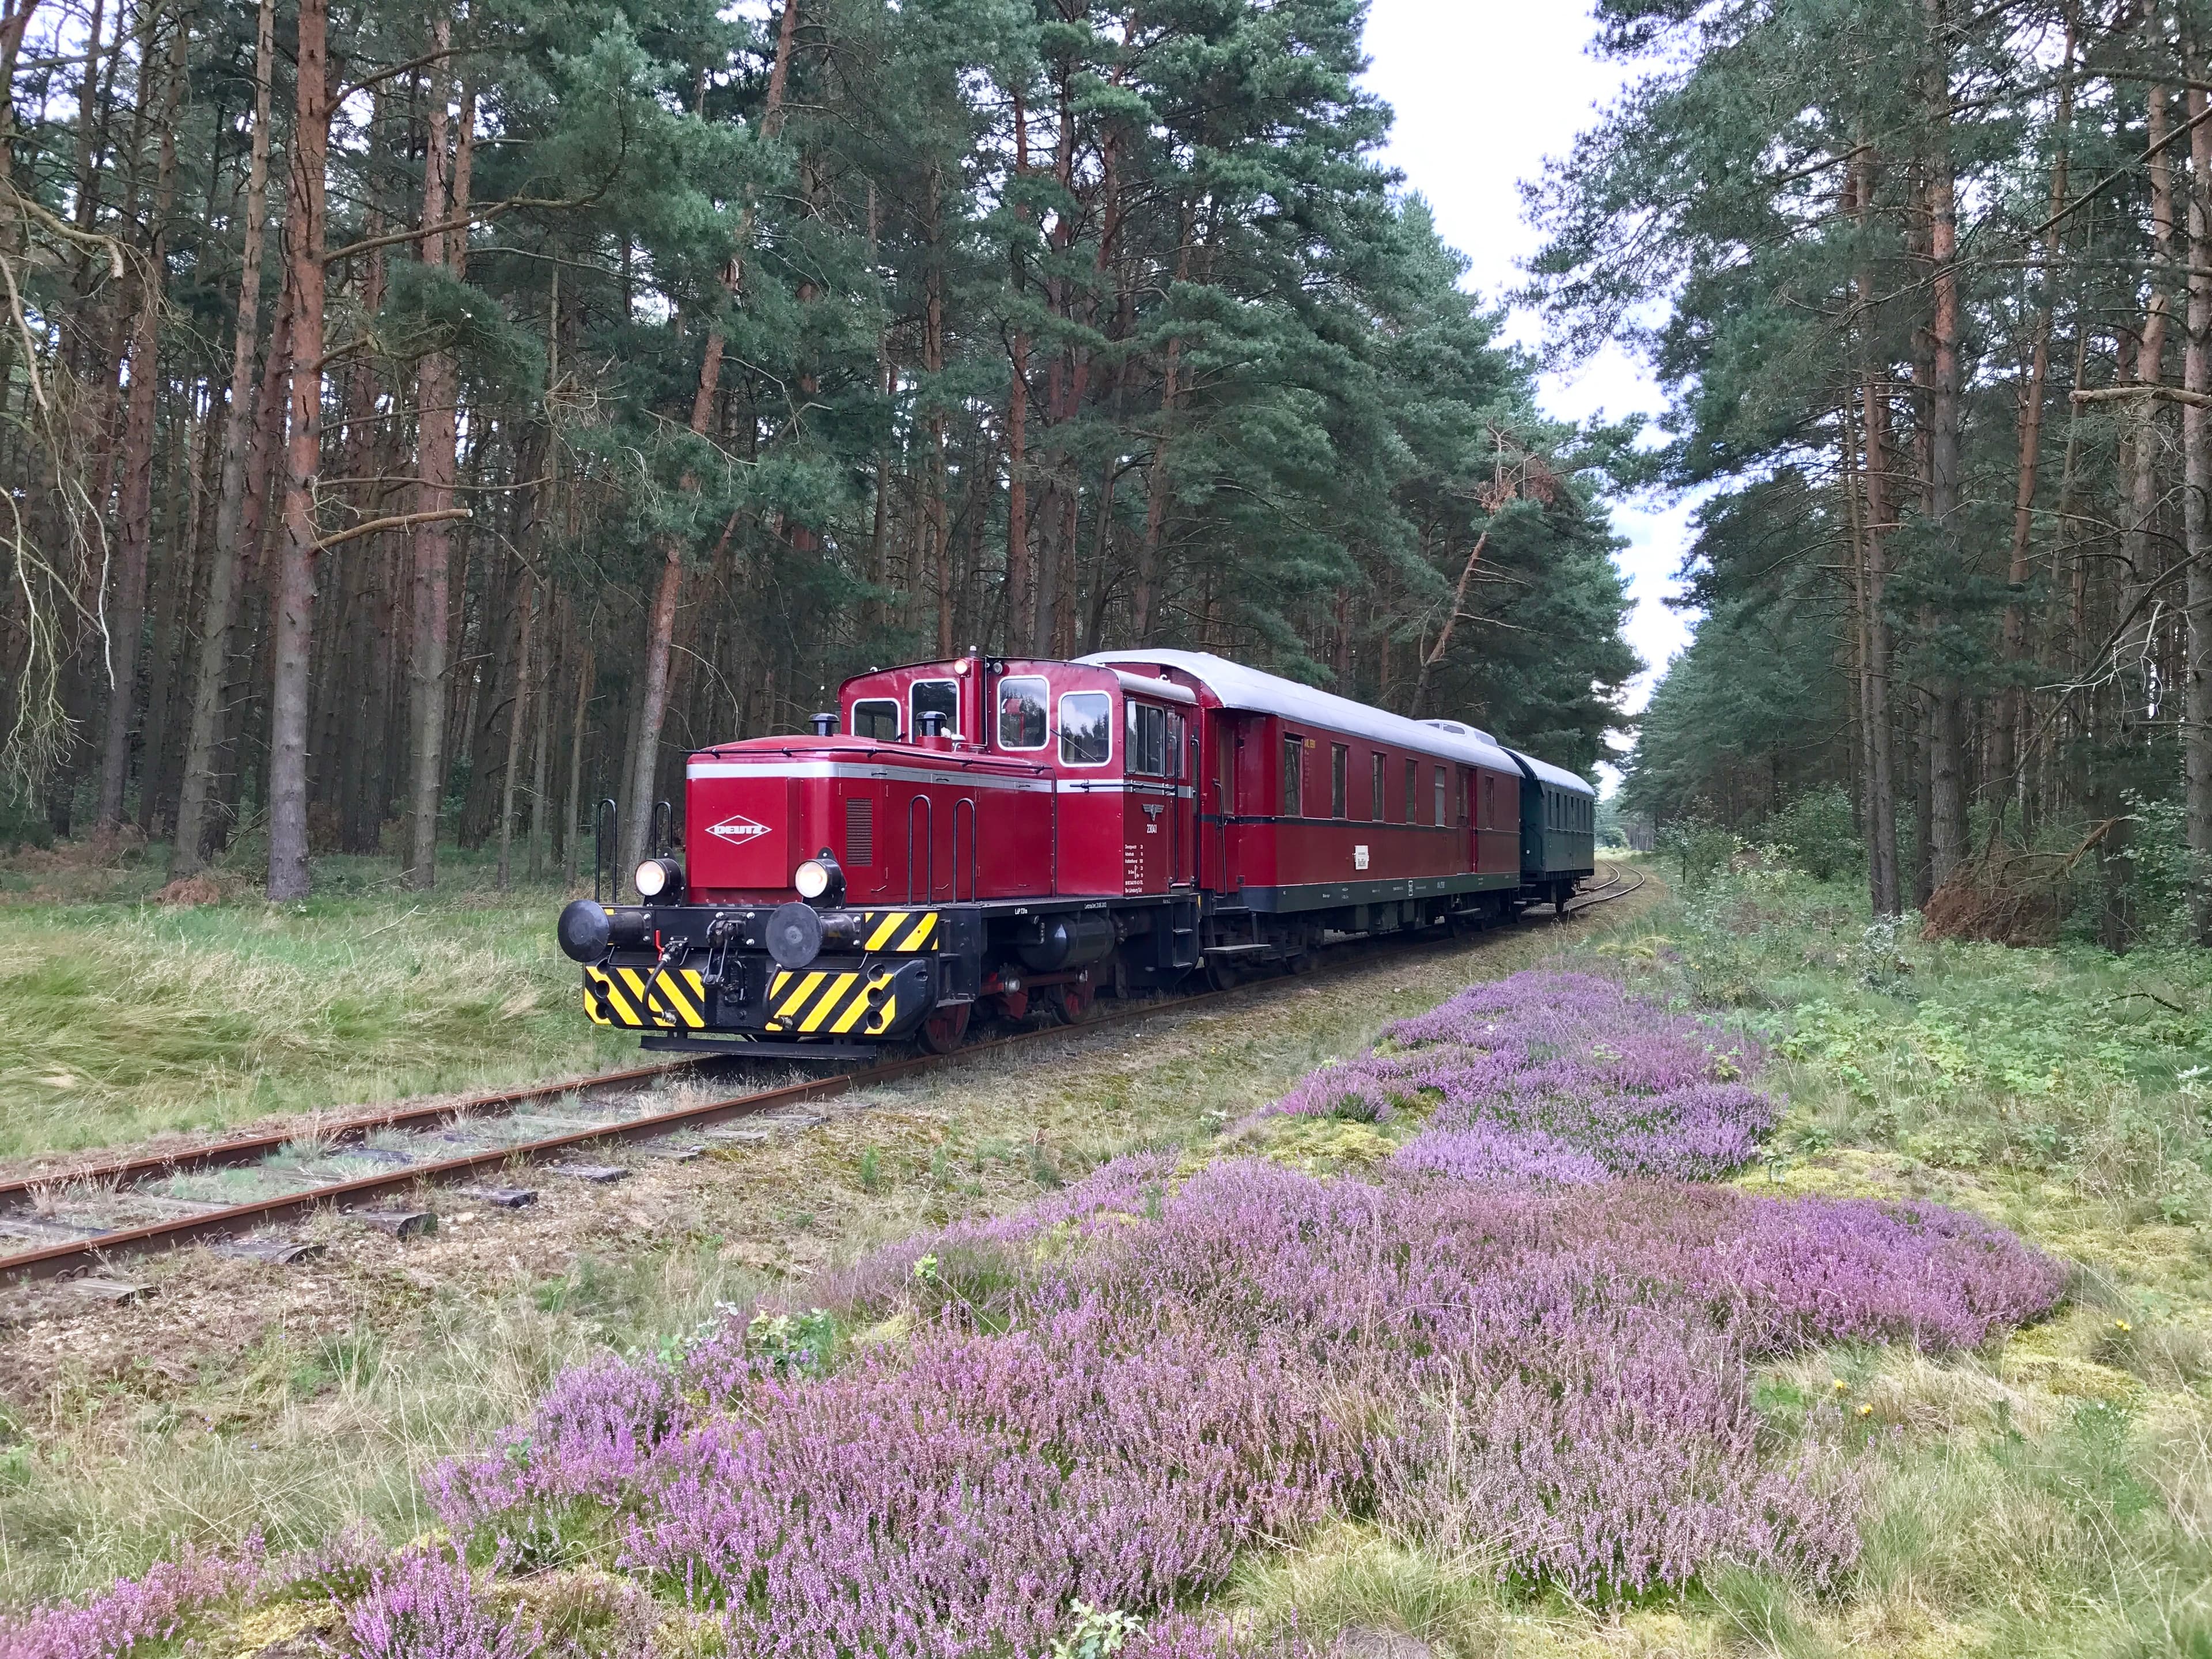
<path fill-rule="evenodd" d="M 1312 1066 L 1562 938 L 1531 927 L 1254 984 L 827 1102 L 818 1128 L 697 1164 L 608 1152 L 635 1170 L 611 1188 L 518 1175 L 542 1197 L 513 1214 L 425 1194 L 442 1223 L 405 1245 L 323 1217 L 310 1232 L 334 1248 L 305 1270 L 135 1263 L 155 1285 L 142 1307 L 0 1334 L 0 1606 L 102 1586 L 184 1542 L 305 1546 L 345 1517 L 414 1537 L 429 1526 L 418 1471 L 522 1416 L 562 1367 L 655 1349 L 717 1303 L 1018 1208 L 1119 1152 L 1223 1144 Z"/>

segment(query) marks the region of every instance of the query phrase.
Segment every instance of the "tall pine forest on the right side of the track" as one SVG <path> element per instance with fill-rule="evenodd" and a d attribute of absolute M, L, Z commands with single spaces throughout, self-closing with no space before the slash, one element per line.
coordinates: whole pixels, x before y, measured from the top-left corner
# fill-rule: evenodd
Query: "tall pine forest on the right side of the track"
<path fill-rule="evenodd" d="M 1537 281 L 1701 491 L 1628 805 L 1840 830 L 1966 931 L 2068 869 L 2126 945 L 2212 856 L 2212 9 L 1599 18 L 1644 75 L 1531 192 Z"/>

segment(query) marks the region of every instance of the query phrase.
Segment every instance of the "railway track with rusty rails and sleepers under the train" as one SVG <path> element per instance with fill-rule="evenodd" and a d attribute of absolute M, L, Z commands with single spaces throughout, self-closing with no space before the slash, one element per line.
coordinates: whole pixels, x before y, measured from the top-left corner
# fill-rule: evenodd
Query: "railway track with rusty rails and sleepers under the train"
<path fill-rule="evenodd" d="M 1641 887 L 1641 872 L 1630 883 L 1615 867 L 1604 883 L 1577 894 L 1562 916 L 1628 898 Z M 1340 960 L 1329 964 L 1338 971 L 1374 956 L 1356 947 L 1338 949 Z M 1402 951 L 1405 945 L 1391 942 L 1387 949 Z M 469 1197 L 482 1203 L 520 1208 L 535 1199 L 535 1190 L 498 1183 L 515 1164 L 540 1164 L 557 1177 L 615 1181 L 628 1170 L 588 1164 L 580 1155 L 628 1141 L 666 1157 L 697 1157 L 717 1139 L 761 1139 L 761 1119 L 790 1124 L 810 1102 L 989 1053 L 1223 1002 L 1274 982 L 1133 1002 L 1099 1011 L 1079 1026 L 1015 1031 L 953 1055 L 898 1057 L 710 1099 L 670 1104 L 657 1086 L 677 1075 L 712 1079 L 717 1068 L 745 1062 L 677 1060 L 635 1066 L 0 1181 L 0 1287 L 73 1276 L 119 1256 L 204 1241 L 219 1241 L 232 1254 L 263 1261 L 299 1261 L 314 1245 L 270 1230 L 321 1208 L 352 1210 L 369 1225 L 405 1237 L 434 1223 L 431 1212 L 405 1206 L 407 1194 L 422 1183 L 467 1183 Z M 754 1119 L 754 1128 L 745 1128 L 743 1119 Z M 126 1290 L 131 1287 L 117 1281 L 117 1294 Z"/>

